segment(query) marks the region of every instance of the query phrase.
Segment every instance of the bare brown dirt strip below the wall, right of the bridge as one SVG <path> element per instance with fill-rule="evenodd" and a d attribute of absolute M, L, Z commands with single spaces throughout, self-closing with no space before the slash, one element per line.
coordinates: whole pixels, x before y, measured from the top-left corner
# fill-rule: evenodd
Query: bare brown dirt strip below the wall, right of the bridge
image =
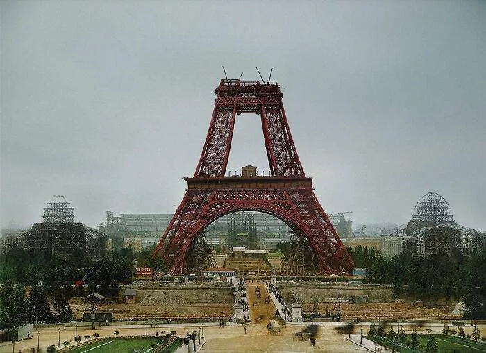
<path fill-rule="evenodd" d="M 328 304 L 329 313 L 333 310 L 334 304 Z M 342 303 L 342 320 L 349 321 L 361 316 L 363 321 L 386 321 L 386 320 L 413 320 L 413 319 L 452 319 L 460 316 L 451 315 L 453 306 L 440 306 L 428 308 L 414 306 L 405 302 L 392 303 Z M 337 310 L 337 308 L 336 308 Z M 313 304 L 304 304 L 303 311 L 313 312 Z M 326 304 L 319 304 L 319 312 L 326 313 Z"/>

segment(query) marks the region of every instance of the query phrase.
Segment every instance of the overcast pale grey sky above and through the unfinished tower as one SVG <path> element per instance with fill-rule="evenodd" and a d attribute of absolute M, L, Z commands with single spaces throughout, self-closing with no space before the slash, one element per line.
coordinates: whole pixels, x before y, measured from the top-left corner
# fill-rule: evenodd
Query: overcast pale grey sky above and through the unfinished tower
<path fill-rule="evenodd" d="M 225 65 L 283 88 L 328 213 L 410 220 L 430 190 L 486 229 L 486 1 L 2 1 L 1 225 L 173 213 Z M 258 115 L 228 170 L 268 172 Z"/>

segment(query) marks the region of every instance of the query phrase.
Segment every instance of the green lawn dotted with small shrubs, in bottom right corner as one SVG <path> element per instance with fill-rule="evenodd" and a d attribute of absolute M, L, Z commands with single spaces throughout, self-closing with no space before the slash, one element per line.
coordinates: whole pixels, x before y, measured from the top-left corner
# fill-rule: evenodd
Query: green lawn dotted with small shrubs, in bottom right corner
<path fill-rule="evenodd" d="M 437 343 L 437 352 L 444 353 L 478 353 L 486 352 L 486 344 L 476 342 L 474 340 L 465 340 L 455 336 L 433 335 Z M 369 340 L 373 340 L 367 336 Z M 419 350 L 412 351 L 408 348 L 399 347 L 399 352 L 425 352 L 428 340 L 428 334 L 419 335 Z M 407 340 L 410 341 L 410 335 L 407 335 Z M 385 338 L 384 343 L 391 347 L 389 340 Z"/>

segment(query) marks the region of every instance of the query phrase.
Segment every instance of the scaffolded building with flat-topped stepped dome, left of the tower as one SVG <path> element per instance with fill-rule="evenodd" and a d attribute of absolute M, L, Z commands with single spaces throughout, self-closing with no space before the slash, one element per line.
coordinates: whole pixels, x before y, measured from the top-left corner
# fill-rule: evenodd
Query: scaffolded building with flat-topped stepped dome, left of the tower
<path fill-rule="evenodd" d="M 74 222 L 74 208 L 64 197 L 49 202 L 44 208 L 42 223 L 34 223 L 29 231 L 8 236 L 3 251 L 25 249 L 35 254 L 59 258 L 101 258 L 106 236 L 96 229 Z"/>

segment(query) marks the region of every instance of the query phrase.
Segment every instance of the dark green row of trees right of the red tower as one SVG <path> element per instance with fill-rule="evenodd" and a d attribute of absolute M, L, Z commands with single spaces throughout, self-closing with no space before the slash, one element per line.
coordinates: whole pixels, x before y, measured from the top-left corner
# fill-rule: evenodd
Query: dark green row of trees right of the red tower
<path fill-rule="evenodd" d="M 486 318 L 486 251 L 463 254 L 458 249 L 427 258 L 399 254 L 385 259 L 374 249 L 348 248 L 355 266 L 367 267 L 366 280 L 392 284 L 394 297 L 436 301 L 462 300 L 465 318 Z"/>

